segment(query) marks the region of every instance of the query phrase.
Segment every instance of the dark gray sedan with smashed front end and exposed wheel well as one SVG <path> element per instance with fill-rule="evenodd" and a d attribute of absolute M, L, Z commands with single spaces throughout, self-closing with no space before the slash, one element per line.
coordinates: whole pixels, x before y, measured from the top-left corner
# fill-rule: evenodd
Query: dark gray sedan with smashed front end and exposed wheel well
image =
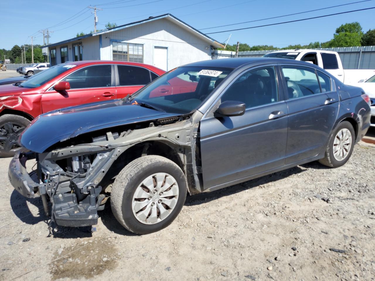
<path fill-rule="evenodd" d="M 183 83 L 184 81 L 184 83 Z M 345 164 L 370 126 L 369 98 L 313 64 L 209 60 L 171 70 L 131 97 L 36 118 L 9 166 L 51 221 L 89 226 L 110 205 L 135 233 L 177 217 L 186 193 L 213 191 L 319 160 Z M 33 176 L 38 180 L 34 181 Z M 48 202 L 52 208 L 48 208 Z"/>

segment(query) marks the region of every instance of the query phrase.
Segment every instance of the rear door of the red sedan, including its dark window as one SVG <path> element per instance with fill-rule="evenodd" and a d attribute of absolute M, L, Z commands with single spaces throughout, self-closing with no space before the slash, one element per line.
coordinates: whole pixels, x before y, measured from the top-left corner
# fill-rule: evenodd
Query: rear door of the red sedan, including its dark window
<path fill-rule="evenodd" d="M 116 92 L 117 98 L 122 99 L 142 88 L 144 85 L 158 77 L 147 68 L 126 64 L 117 64 Z"/>

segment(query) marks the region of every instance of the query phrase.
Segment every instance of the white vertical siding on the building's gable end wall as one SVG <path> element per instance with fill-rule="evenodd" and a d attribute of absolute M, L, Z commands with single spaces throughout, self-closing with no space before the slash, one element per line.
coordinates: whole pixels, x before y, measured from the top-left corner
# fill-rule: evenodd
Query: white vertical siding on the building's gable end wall
<path fill-rule="evenodd" d="M 102 34 L 102 60 L 112 60 L 111 41 L 143 44 L 143 62 L 151 65 L 154 46 L 168 47 L 168 70 L 211 58 L 208 43 L 165 18 Z"/>

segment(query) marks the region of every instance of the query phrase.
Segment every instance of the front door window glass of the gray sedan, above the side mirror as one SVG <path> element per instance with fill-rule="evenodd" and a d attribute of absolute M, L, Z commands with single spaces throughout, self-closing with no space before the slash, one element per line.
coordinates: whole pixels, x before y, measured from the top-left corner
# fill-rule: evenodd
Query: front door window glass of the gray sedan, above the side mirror
<path fill-rule="evenodd" d="M 264 67 L 246 72 L 223 94 L 221 101 L 244 102 L 246 108 L 278 102 L 275 67 Z"/>

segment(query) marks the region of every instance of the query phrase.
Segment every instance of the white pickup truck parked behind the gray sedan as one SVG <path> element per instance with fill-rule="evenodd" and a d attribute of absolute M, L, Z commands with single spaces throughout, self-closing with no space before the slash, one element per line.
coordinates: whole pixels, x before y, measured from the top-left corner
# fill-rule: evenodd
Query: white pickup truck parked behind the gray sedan
<path fill-rule="evenodd" d="M 337 52 L 323 50 L 282 50 L 268 53 L 264 57 L 308 61 L 327 70 L 344 84 L 361 87 L 370 97 L 371 126 L 375 127 L 375 69 L 343 69 Z"/>

